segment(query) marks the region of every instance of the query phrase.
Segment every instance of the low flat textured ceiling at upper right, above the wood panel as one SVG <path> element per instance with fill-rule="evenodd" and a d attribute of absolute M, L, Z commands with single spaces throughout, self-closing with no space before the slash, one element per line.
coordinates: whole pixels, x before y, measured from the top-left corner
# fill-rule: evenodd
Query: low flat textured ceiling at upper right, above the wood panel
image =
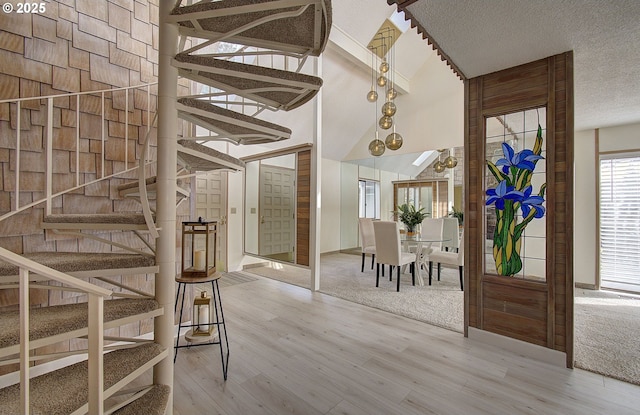
<path fill-rule="evenodd" d="M 640 122 L 638 0 L 418 0 L 407 10 L 467 78 L 573 50 L 576 130 Z"/>

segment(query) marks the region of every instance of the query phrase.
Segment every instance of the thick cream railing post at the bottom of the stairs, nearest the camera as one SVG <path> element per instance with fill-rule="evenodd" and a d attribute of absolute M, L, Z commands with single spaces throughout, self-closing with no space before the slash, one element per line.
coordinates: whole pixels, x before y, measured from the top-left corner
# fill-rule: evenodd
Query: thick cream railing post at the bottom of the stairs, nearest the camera
<path fill-rule="evenodd" d="M 104 414 L 104 297 L 89 294 L 89 413 Z"/>

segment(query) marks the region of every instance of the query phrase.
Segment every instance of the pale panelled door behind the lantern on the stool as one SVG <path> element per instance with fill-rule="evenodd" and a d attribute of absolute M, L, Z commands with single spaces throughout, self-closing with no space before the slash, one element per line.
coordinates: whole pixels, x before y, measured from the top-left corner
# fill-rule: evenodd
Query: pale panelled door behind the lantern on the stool
<path fill-rule="evenodd" d="M 196 176 L 195 218 L 218 221 L 216 267 L 227 270 L 227 174 L 211 172 Z"/>

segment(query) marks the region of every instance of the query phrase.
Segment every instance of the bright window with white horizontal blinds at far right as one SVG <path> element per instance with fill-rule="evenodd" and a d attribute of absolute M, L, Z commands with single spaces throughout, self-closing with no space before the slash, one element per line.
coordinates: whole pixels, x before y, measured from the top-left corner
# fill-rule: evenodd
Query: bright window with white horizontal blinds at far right
<path fill-rule="evenodd" d="M 640 292 L 640 154 L 600 159 L 600 286 Z"/>

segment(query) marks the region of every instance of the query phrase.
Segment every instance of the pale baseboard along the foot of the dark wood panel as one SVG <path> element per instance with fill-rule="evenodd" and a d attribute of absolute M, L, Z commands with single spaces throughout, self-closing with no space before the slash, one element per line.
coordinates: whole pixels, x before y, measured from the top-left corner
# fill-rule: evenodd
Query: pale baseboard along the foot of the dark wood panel
<path fill-rule="evenodd" d="M 479 330 L 475 327 L 469 327 L 468 337 L 470 340 L 499 347 L 530 359 L 550 363 L 555 366 L 567 367 L 567 354 L 558 350 L 512 339 L 511 337 L 501 336 L 489 331 Z"/>

